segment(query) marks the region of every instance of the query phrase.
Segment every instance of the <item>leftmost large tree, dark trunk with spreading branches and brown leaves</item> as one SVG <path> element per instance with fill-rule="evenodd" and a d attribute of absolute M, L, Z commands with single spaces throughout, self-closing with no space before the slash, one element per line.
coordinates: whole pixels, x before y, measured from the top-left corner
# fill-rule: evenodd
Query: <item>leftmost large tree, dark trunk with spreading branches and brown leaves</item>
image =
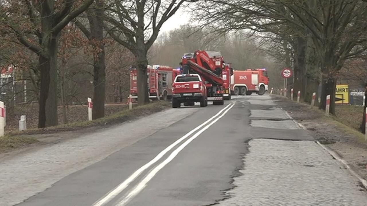
<path fill-rule="evenodd" d="M 58 124 L 57 53 L 61 30 L 93 0 L 1 1 L 0 31 L 38 55 L 39 128 Z"/>

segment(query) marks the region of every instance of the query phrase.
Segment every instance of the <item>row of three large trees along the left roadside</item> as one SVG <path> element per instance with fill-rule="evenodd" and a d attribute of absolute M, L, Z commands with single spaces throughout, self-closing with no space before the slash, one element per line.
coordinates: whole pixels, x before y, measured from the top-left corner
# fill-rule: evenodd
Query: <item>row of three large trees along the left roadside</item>
<path fill-rule="evenodd" d="M 0 2 L 0 55 L 28 49 L 37 59 L 32 65 L 39 102 L 39 128 L 58 124 L 58 56 L 65 55 L 77 27 L 84 34 L 93 56 L 93 119 L 104 116 L 106 66 L 105 45 L 122 45 L 135 57 L 138 69 L 138 103 L 149 102 L 146 81 L 147 53 L 164 22 L 191 0 L 3 0 Z M 69 35 L 69 37 L 67 37 Z M 65 40 L 60 46 L 61 36 Z M 81 41 L 76 40 L 76 41 Z M 79 42 L 80 43 L 80 42 Z M 66 46 L 65 46 L 66 45 Z M 8 51 L 7 51 L 8 50 Z M 13 55 L 13 57 L 16 55 Z M 18 55 L 19 56 L 19 55 Z M 19 56 L 20 57 L 20 56 Z M 2 59 L 17 66 L 20 58 Z M 30 66 L 27 69 L 31 69 Z M 61 75 L 62 76 L 62 75 Z"/>

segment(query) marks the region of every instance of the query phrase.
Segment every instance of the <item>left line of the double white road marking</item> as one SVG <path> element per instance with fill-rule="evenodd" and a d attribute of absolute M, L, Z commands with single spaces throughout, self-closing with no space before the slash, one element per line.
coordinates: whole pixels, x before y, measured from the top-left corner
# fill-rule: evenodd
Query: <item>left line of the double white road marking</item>
<path fill-rule="evenodd" d="M 132 181 L 134 181 L 144 170 L 148 169 L 151 165 L 153 165 L 155 162 L 157 162 L 160 158 L 162 158 L 168 151 L 170 151 L 173 147 L 175 147 L 177 144 L 179 144 L 181 141 L 186 139 L 188 136 L 192 135 L 194 132 L 199 130 L 201 127 L 206 125 L 208 122 L 212 121 L 212 119 L 218 117 L 219 114 L 221 114 L 224 110 L 226 110 L 231 104 L 228 104 L 226 107 L 224 107 L 222 110 L 220 110 L 217 114 L 209 118 L 207 121 L 205 121 L 203 124 L 197 126 L 190 132 L 188 132 L 186 135 L 182 136 L 180 139 L 176 140 L 174 143 L 172 143 L 170 146 L 159 152 L 159 154 L 153 158 L 151 161 L 143 165 L 141 168 L 136 170 L 134 173 L 131 174 L 131 176 L 123 181 L 121 184 L 117 185 L 113 190 L 109 191 L 105 196 L 103 196 L 101 199 L 93 203 L 92 206 L 103 206 L 109 201 L 111 201 L 113 198 L 115 198 L 120 192 L 122 192 Z"/>

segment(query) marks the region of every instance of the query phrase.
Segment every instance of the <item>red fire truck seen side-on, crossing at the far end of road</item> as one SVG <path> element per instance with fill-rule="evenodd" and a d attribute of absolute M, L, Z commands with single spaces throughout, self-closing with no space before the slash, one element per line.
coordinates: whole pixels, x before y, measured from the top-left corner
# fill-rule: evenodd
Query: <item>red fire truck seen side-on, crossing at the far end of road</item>
<path fill-rule="evenodd" d="M 253 92 L 264 95 L 268 91 L 266 69 L 234 70 L 231 76 L 233 95 L 251 95 Z"/>

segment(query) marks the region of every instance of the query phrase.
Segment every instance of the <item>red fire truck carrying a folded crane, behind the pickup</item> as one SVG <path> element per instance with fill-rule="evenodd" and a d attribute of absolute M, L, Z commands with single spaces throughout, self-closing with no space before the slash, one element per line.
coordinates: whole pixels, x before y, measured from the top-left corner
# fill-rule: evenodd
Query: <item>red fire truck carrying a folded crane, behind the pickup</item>
<path fill-rule="evenodd" d="M 223 61 L 220 52 L 198 50 L 184 54 L 182 73 L 199 74 L 207 89 L 207 100 L 214 105 L 223 105 L 225 99 L 230 99 L 232 68 Z"/>

